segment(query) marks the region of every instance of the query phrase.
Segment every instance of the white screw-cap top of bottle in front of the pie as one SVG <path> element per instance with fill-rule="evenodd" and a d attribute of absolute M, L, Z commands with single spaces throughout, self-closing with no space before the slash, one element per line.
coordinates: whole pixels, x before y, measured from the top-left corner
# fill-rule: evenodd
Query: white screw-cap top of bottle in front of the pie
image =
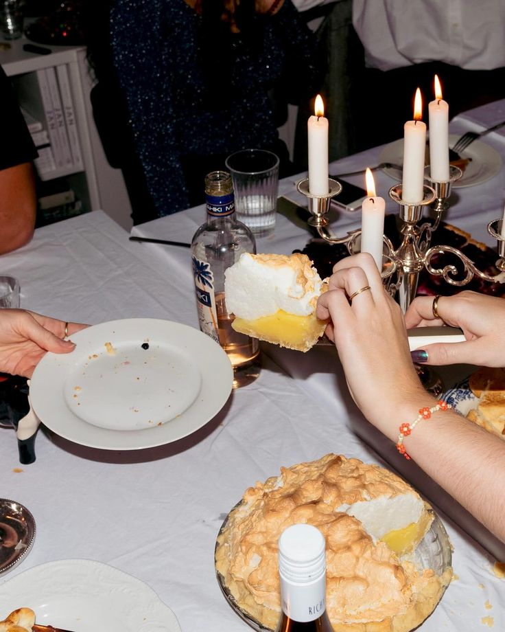
<path fill-rule="evenodd" d="M 303 584 L 326 572 L 325 538 L 309 524 L 287 527 L 279 538 L 279 574 L 287 581 Z"/>

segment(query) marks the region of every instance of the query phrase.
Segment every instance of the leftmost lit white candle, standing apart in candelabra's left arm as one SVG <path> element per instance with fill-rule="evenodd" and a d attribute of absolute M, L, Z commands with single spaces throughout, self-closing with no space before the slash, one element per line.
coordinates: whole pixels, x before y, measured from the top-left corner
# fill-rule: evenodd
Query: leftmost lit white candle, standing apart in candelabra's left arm
<path fill-rule="evenodd" d="M 314 106 L 314 116 L 307 122 L 309 143 L 309 193 L 328 194 L 328 119 L 325 118 L 325 106 L 318 94 Z"/>

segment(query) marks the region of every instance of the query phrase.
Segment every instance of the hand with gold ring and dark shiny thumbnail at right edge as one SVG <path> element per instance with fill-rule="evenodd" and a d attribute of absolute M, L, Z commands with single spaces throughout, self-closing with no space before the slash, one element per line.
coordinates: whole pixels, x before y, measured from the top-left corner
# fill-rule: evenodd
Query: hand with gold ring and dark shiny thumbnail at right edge
<path fill-rule="evenodd" d="M 505 366 L 504 299 L 470 291 L 441 296 L 436 306 L 439 318 L 433 302 L 432 296 L 414 299 L 405 315 L 407 327 L 451 325 L 460 327 L 467 340 L 426 345 L 428 364 Z"/>

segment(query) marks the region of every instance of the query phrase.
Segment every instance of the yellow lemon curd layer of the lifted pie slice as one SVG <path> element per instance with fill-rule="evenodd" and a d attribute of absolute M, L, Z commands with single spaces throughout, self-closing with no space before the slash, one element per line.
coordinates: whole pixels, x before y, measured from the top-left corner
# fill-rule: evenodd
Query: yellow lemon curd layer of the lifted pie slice
<path fill-rule="evenodd" d="M 255 320 L 236 317 L 232 327 L 235 331 L 281 347 L 308 351 L 322 336 L 326 321 L 319 320 L 314 314 L 298 316 L 279 309 Z"/>

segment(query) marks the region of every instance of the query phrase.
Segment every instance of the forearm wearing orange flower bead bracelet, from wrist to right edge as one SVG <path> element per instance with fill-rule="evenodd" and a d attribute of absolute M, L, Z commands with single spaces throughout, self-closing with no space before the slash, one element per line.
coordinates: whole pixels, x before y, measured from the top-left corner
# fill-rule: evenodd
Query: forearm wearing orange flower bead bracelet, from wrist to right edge
<path fill-rule="evenodd" d="M 386 431 L 395 442 L 401 422 L 436 404 L 427 394 L 401 407 Z M 416 425 L 404 445 L 412 460 L 486 528 L 505 541 L 505 442 L 450 409 Z M 391 446 L 395 450 L 395 445 Z"/>

